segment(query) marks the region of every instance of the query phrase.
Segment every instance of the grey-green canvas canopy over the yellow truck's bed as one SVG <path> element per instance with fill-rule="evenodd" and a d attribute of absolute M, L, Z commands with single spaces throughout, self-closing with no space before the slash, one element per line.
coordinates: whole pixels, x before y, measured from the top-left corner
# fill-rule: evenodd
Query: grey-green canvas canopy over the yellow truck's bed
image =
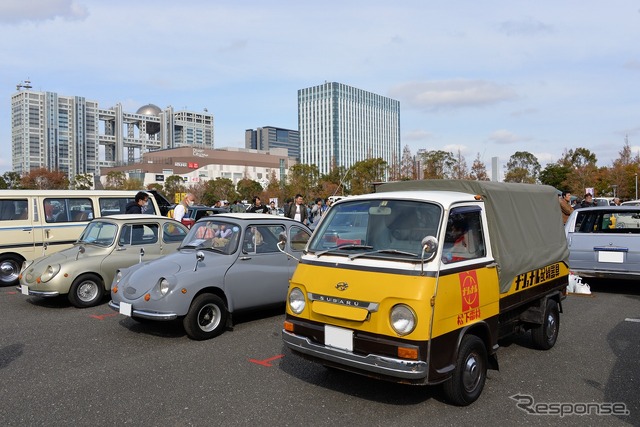
<path fill-rule="evenodd" d="M 555 188 L 442 179 L 389 182 L 376 188 L 377 193 L 426 190 L 482 196 L 491 249 L 498 264 L 500 292 L 508 292 L 518 274 L 559 261 L 568 263 L 569 249 Z"/>

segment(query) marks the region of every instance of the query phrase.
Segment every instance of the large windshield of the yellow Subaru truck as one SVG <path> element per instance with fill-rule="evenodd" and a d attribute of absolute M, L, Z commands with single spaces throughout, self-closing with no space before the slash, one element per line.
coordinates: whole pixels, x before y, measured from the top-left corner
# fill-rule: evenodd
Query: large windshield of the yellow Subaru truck
<path fill-rule="evenodd" d="M 420 260 L 422 239 L 437 237 L 442 209 L 433 203 L 376 199 L 336 204 L 309 243 L 309 252 Z"/>

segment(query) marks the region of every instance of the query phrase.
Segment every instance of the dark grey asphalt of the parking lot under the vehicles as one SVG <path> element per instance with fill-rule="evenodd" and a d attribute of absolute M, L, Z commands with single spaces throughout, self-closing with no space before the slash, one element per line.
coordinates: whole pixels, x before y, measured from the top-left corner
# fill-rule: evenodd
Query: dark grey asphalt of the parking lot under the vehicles
<path fill-rule="evenodd" d="M 142 324 L 106 304 L 77 309 L 0 288 L 0 425 L 638 426 L 640 283 L 590 284 L 591 296 L 565 300 L 551 350 L 532 349 L 527 334 L 501 342 L 500 370 L 463 408 L 440 387 L 292 355 L 282 308 L 198 342 L 179 322 Z M 584 415 L 587 404 L 605 415 Z"/>

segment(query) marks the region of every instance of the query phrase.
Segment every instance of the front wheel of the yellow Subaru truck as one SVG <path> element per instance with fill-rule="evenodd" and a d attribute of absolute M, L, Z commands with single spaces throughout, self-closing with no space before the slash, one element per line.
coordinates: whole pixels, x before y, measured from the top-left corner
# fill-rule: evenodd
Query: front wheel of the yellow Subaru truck
<path fill-rule="evenodd" d="M 465 335 L 458 349 L 453 375 L 444 383 L 444 394 L 453 404 L 467 406 L 475 402 L 487 379 L 487 349 L 475 335 Z"/>

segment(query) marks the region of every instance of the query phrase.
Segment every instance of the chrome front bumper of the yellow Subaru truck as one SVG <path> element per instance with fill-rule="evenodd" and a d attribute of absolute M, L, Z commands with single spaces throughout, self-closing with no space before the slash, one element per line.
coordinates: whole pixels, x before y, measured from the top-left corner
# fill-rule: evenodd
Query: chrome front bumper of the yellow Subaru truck
<path fill-rule="evenodd" d="M 342 365 L 345 368 L 350 367 L 385 377 L 406 380 L 421 380 L 427 377 L 427 363 L 423 361 L 396 359 L 375 354 L 361 356 L 349 351 L 313 343 L 306 337 L 301 337 L 285 330 L 282 330 L 282 339 L 287 347 L 293 351 Z"/>

